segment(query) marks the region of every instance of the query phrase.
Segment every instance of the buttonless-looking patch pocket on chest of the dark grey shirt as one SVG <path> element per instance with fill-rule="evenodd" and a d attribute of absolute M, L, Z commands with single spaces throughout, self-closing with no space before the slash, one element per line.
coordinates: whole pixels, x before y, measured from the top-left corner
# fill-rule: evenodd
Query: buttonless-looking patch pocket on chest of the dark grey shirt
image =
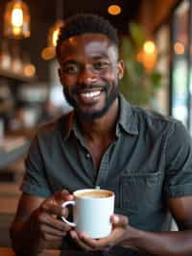
<path fill-rule="evenodd" d="M 120 179 L 120 207 L 136 214 L 159 208 L 161 200 L 161 173 L 129 173 Z"/>

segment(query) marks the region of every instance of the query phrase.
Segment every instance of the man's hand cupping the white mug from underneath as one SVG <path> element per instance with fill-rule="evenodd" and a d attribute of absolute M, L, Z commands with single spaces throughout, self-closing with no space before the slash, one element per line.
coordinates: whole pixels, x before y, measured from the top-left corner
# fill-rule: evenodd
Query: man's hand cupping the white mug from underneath
<path fill-rule="evenodd" d="M 127 239 L 129 229 L 129 219 L 121 215 L 113 215 L 110 218 L 112 223 L 112 232 L 108 237 L 95 240 L 87 237 L 86 234 L 78 234 L 75 230 L 70 231 L 72 239 L 84 250 L 108 250 L 114 245 L 123 245 Z M 131 246 L 130 246 L 131 247 Z"/>

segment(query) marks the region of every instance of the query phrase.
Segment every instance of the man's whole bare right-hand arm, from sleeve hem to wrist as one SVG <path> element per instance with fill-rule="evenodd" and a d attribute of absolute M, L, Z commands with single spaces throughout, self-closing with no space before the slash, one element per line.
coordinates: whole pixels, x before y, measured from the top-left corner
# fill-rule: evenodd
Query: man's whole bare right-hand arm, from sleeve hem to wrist
<path fill-rule="evenodd" d="M 133 230 L 135 247 L 152 255 L 192 255 L 192 196 L 169 199 L 179 232 L 153 233 Z M 128 240 L 129 241 L 129 240 Z"/>

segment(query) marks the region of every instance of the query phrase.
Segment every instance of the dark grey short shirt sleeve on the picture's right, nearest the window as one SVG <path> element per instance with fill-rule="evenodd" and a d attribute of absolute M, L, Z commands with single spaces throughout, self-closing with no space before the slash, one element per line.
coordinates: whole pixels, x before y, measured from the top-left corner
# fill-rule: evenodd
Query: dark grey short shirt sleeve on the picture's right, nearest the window
<path fill-rule="evenodd" d="M 165 145 L 165 192 L 168 197 L 192 195 L 192 141 L 185 127 L 175 121 Z"/>

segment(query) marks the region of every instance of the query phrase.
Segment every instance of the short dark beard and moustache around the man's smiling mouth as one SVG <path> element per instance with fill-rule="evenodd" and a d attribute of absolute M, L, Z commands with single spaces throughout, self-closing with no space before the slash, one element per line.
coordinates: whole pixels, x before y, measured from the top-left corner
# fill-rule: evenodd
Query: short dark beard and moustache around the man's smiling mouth
<path fill-rule="evenodd" d="M 79 90 L 87 90 L 87 89 L 102 89 L 102 92 L 106 94 L 106 100 L 104 107 L 100 110 L 94 110 L 92 112 L 86 112 L 84 109 L 81 108 L 81 106 L 78 104 L 78 102 L 75 100 L 75 95 Z M 111 89 L 111 90 L 108 90 Z M 87 120 L 93 120 L 95 118 L 100 118 L 103 115 L 105 115 L 108 112 L 108 109 L 118 96 L 119 90 L 118 90 L 118 82 L 113 83 L 113 85 L 109 86 L 108 84 L 105 86 L 99 86 L 99 85 L 81 85 L 77 86 L 73 90 L 69 91 L 65 87 L 63 87 L 63 93 L 67 100 L 67 102 L 74 108 L 77 115 L 81 118 L 87 119 Z"/>

